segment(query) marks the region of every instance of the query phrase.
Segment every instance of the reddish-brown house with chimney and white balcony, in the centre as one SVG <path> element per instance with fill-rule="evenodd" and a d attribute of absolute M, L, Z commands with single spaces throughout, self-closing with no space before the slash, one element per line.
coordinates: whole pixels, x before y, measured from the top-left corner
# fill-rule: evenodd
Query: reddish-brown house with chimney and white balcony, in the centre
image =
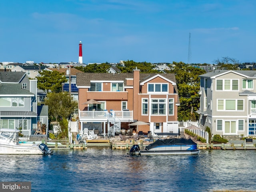
<path fill-rule="evenodd" d="M 114 133 L 128 130 L 128 124 L 136 121 L 149 125 L 134 127 L 134 132 L 178 130 L 179 97 L 174 74 L 143 74 L 137 69 L 120 74 L 78 73 L 76 85 L 81 130 Z"/>

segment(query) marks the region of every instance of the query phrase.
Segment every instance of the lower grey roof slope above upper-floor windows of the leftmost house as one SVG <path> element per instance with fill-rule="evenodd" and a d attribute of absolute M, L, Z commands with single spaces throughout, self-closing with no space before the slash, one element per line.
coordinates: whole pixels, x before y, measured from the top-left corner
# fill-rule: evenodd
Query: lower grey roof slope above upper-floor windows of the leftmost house
<path fill-rule="evenodd" d="M 33 93 L 21 88 L 21 84 L 4 83 L 0 84 L 0 95 L 26 95 L 34 96 Z"/>

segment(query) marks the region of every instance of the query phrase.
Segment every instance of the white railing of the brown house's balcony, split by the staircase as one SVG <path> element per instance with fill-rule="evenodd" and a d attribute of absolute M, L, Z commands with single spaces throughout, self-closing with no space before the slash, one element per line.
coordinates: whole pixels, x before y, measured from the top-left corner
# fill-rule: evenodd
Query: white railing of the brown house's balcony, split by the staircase
<path fill-rule="evenodd" d="M 79 119 L 80 120 L 108 120 L 109 112 L 106 111 L 80 111 L 79 110 Z M 120 120 L 132 120 L 133 111 L 114 111 L 111 110 L 112 118 L 118 118 Z"/>

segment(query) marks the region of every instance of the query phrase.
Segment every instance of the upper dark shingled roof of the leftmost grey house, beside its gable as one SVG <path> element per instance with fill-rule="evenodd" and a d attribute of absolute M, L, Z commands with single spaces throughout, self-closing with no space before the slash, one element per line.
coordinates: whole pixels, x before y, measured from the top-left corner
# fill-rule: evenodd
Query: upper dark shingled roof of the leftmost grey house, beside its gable
<path fill-rule="evenodd" d="M 19 83 L 22 78 L 26 75 L 26 72 L 22 71 L 4 71 L 0 72 L 0 82 L 1 83 Z"/>

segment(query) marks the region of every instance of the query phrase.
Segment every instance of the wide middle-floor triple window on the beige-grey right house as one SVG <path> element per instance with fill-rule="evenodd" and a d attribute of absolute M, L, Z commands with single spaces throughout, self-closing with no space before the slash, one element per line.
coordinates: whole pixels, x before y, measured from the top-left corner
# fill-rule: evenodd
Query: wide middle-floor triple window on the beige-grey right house
<path fill-rule="evenodd" d="M 217 110 L 233 110 L 233 111 L 243 111 L 244 110 L 244 100 L 232 100 L 226 99 L 217 100 Z"/>

